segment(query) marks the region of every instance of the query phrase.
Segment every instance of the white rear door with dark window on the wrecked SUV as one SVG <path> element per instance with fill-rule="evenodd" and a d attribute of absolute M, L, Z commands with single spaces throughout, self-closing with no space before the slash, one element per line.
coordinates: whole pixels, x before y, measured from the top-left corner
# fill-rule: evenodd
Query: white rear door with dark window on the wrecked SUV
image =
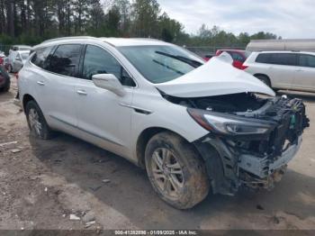
<path fill-rule="evenodd" d="M 37 80 L 46 118 L 61 130 L 77 125 L 74 88 L 82 48 L 81 44 L 59 45 Z"/>

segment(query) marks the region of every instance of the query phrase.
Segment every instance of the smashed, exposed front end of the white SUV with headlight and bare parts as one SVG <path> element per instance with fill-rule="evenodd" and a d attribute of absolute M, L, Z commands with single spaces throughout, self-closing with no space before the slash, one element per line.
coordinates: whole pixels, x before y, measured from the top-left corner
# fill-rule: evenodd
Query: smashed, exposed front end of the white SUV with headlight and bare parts
<path fill-rule="evenodd" d="M 252 93 L 179 98 L 163 95 L 187 107 L 193 119 L 209 131 L 194 145 L 206 160 L 214 179 L 212 188 L 233 194 L 238 186 L 270 189 L 284 174 L 310 126 L 301 99 L 264 97 Z M 223 173 L 212 168 L 213 149 Z"/>

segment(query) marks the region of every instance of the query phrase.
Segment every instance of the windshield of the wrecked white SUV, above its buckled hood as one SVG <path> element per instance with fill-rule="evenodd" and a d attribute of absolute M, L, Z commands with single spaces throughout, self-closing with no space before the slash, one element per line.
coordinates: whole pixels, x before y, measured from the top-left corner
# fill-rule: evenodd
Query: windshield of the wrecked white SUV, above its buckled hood
<path fill-rule="evenodd" d="M 119 50 L 154 84 L 184 76 L 203 63 L 193 53 L 171 45 L 127 46 Z"/>

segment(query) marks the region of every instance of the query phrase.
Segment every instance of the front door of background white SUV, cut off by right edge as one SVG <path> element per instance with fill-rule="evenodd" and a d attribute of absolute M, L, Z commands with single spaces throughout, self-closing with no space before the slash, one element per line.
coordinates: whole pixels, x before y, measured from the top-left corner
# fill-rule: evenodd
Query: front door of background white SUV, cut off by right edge
<path fill-rule="evenodd" d="M 299 54 L 293 89 L 315 91 L 315 56 Z"/>

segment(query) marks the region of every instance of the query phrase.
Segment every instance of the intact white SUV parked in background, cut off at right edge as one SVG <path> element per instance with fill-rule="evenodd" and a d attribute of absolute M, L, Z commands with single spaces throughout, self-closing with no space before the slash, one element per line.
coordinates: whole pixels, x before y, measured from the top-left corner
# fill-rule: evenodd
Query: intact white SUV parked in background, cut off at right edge
<path fill-rule="evenodd" d="M 245 71 L 277 89 L 315 92 L 315 52 L 253 52 Z"/>

